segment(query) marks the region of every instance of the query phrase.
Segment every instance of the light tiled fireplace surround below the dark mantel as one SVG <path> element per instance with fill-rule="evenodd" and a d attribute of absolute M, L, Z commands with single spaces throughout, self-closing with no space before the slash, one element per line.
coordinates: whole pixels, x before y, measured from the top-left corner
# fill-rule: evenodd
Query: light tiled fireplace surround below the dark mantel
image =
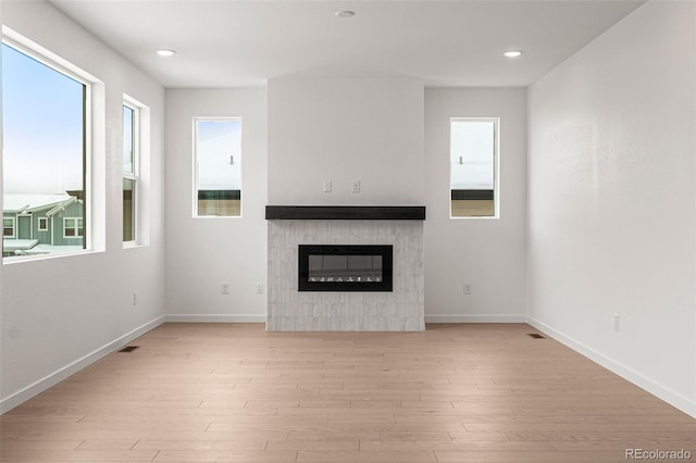
<path fill-rule="evenodd" d="M 413 220 L 270 220 L 266 328 L 422 330 L 423 222 Z M 298 292 L 298 245 L 391 245 L 393 292 Z"/>

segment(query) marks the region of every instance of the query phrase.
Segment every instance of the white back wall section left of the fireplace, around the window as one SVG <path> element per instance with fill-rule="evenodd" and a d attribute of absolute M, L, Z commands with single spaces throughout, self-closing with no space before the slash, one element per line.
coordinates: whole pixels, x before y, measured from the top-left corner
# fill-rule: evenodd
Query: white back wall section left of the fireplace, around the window
<path fill-rule="evenodd" d="M 241 217 L 192 217 L 195 116 L 241 117 Z M 167 320 L 265 321 L 265 89 L 167 89 L 166 134 Z"/>

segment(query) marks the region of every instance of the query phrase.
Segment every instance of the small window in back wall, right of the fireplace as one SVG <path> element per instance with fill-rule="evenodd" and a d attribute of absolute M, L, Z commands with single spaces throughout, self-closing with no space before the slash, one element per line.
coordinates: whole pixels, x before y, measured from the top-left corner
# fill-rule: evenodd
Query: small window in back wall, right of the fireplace
<path fill-rule="evenodd" d="M 450 120 L 450 216 L 496 217 L 497 118 Z"/>

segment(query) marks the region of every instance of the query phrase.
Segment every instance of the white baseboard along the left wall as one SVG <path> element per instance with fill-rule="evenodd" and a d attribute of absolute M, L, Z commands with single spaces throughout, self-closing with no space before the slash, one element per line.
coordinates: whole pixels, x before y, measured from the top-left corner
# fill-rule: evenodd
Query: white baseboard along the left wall
<path fill-rule="evenodd" d="M 30 398 L 33 398 L 34 396 L 44 392 L 45 390 L 47 390 L 48 388 L 55 386 L 58 383 L 62 381 L 63 379 L 67 378 L 71 375 L 74 375 L 75 373 L 79 372 L 80 370 L 83 370 L 84 367 L 95 363 L 96 361 L 98 361 L 99 359 L 110 354 L 111 352 L 113 352 L 114 350 L 125 346 L 126 343 L 128 343 L 129 341 L 132 341 L 133 339 L 142 336 L 144 334 L 146 334 L 147 331 L 157 328 L 158 326 L 160 326 L 162 323 L 164 323 L 164 315 L 159 316 L 137 328 L 135 328 L 134 330 L 126 333 L 125 335 L 121 336 L 120 338 L 114 339 L 113 341 L 100 347 L 99 349 L 88 353 L 87 355 L 83 356 L 82 359 L 76 360 L 75 362 L 63 366 L 62 368 L 58 370 L 54 373 L 51 373 L 50 375 L 39 379 L 38 381 L 25 387 L 24 389 L 21 389 L 16 392 L 14 392 L 13 395 L 5 397 L 4 399 L 0 400 L 0 414 L 3 414 L 5 412 L 9 412 L 10 410 L 14 409 L 15 406 L 26 402 L 27 400 L 29 400 Z"/>

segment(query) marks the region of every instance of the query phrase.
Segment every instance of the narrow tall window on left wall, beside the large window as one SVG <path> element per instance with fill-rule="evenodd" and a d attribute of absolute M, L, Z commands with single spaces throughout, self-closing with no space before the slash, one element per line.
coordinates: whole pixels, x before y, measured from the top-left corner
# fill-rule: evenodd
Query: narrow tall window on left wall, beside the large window
<path fill-rule="evenodd" d="M 123 105 L 123 241 L 136 241 L 136 198 L 138 195 L 139 112 L 135 104 Z"/>

